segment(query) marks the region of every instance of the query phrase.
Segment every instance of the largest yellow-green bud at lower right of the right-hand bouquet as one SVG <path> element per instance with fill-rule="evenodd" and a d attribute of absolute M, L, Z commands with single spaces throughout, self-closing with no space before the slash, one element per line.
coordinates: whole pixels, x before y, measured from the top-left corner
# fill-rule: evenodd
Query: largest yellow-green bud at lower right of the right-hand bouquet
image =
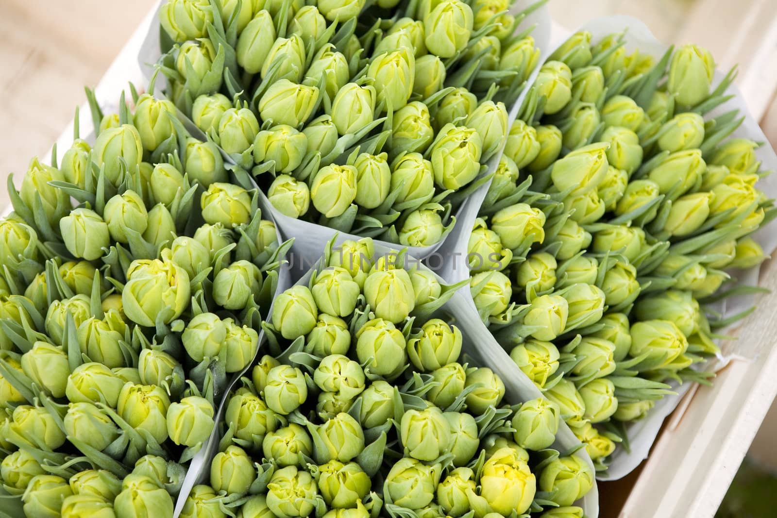
<path fill-rule="evenodd" d="M 688 340 L 678 326 L 667 320 L 648 320 L 632 325 L 631 356 L 646 354 L 650 370 L 685 367 L 683 355 Z"/>

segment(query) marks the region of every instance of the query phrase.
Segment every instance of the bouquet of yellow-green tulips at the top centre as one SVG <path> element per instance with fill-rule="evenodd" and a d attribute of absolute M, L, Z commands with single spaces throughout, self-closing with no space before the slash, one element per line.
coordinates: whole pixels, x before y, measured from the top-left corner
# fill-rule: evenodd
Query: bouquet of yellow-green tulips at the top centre
<path fill-rule="evenodd" d="M 278 213 L 428 246 L 503 147 L 538 5 L 169 0 L 158 68 Z"/>

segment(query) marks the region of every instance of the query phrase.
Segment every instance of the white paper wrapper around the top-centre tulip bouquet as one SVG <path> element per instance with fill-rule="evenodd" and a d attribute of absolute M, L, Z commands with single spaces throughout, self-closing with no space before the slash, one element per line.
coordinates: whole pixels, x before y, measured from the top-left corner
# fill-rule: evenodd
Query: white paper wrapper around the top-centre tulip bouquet
<path fill-rule="evenodd" d="M 523 9 L 528 8 L 529 5 L 535 3 L 535 0 L 517 0 L 514 5 L 511 6 L 510 12 L 520 12 Z M 161 5 L 161 2 L 160 4 Z M 155 16 L 154 21 L 152 22 L 151 26 L 148 29 L 148 33 L 145 37 L 145 40 L 143 41 L 141 45 L 141 49 L 138 52 L 138 65 L 142 69 L 144 75 L 146 78 L 151 78 L 153 74 L 153 64 L 156 63 L 159 60 L 160 57 L 160 50 L 159 50 L 159 6 L 155 9 Z M 531 12 L 529 16 L 526 17 L 526 19 L 523 20 L 521 23 L 521 26 L 517 28 L 518 32 L 521 32 L 523 30 L 528 29 L 528 27 L 535 26 L 534 30 L 531 32 L 531 36 L 535 38 L 535 43 L 537 46 L 544 50 L 545 48 L 549 47 L 550 43 L 550 33 L 551 33 L 551 20 L 550 20 L 550 13 L 547 5 L 542 5 L 539 9 L 536 9 L 534 12 Z M 539 61 L 539 63 L 542 63 L 542 60 Z M 538 72 L 538 68 L 535 68 L 534 71 L 532 71 L 530 78 L 528 79 L 528 84 L 531 84 L 531 82 L 534 82 L 534 79 L 536 77 L 536 74 Z M 158 96 L 162 96 L 162 89 L 164 88 L 164 78 L 162 75 L 159 75 L 157 78 L 157 90 L 159 92 Z M 523 103 L 523 99 L 526 93 L 526 89 L 524 89 L 524 92 L 521 93 L 521 96 L 519 99 L 517 99 L 517 102 L 514 106 L 510 108 L 509 112 L 509 119 L 508 119 L 508 125 L 507 127 L 510 127 L 513 120 L 515 120 L 515 116 L 517 113 L 518 108 L 521 106 L 521 103 Z M 499 163 L 499 158 L 502 155 L 502 150 L 495 154 L 490 161 L 488 162 L 488 170 L 485 173 L 486 175 L 490 175 L 497 169 L 497 164 Z M 410 256 L 423 259 L 426 258 L 435 252 L 437 252 L 438 249 L 441 249 L 444 247 L 451 239 L 453 238 L 453 235 L 460 234 L 462 232 L 462 229 L 472 228 L 472 221 L 475 220 L 476 214 L 477 214 L 477 208 L 480 206 L 481 203 L 483 203 L 483 198 L 486 196 L 486 191 L 488 190 L 488 186 L 483 186 L 480 189 L 476 191 L 476 193 L 473 196 L 470 196 L 467 200 L 465 200 L 456 210 L 454 217 L 456 218 L 456 224 L 455 227 L 451 230 L 451 233 L 446 236 L 441 242 L 435 243 L 434 245 L 429 246 L 410 246 L 407 247 L 408 253 Z M 317 249 L 317 253 L 315 256 L 307 256 L 305 259 L 309 261 L 315 261 L 320 256 L 321 251 L 324 249 L 324 246 L 327 242 L 329 242 L 329 239 L 333 238 L 335 234 L 338 234 L 338 231 L 336 231 L 333 228 L 324 227 L 319 224 L 311 223 L 309 221 L 303 221 L 294 219 L 293 217 L 285 216 L 284 214 L 280 214 L 278 210 L 275 209 L 275 207 L 272 207 L 272 204 L 269 200 L 267 200 L 267 196 L 262 195 L 261 196 L 263 200 L 260 201 L 260 204 L 262 204 L 262 210 L 263 212 L 266 210 L 265 206 L 270 210 L 270 212 L 274 216 L 274 220 L 277 221 L 277 224 L 280 227 L 281 234 L 286 236 L 287 238 L 291 237 L 297 237 L 298 240 L 302 236 L 304 236 L 305 241 L 310 242 L 314 249 Z M 465 231 L 468 232 L 468 231 Z M 340 232 L 340 234 L 343 234 Z M 343 239 L 358 239 L 361 236 L 357 235 L 345 235 L 347 237 Z M 391 243 L 391 242 L 385 242 L 381 241 L 379 239 L 375 239 L 376 245 L 385 245 L 385 246 L 401 246 L 399 244 Z"/>

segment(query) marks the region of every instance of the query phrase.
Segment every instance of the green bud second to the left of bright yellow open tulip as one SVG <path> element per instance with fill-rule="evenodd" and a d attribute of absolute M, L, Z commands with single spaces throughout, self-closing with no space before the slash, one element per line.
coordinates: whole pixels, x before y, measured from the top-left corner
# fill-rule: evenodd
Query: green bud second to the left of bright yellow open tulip
<path fill-rule="evenodd" d="M 399 459 L 385 478 L 383 494 L 396 506 L 420 509 L 434 499 L 440 471 L 439 464 L 427 466 L 413 458 Z"/>

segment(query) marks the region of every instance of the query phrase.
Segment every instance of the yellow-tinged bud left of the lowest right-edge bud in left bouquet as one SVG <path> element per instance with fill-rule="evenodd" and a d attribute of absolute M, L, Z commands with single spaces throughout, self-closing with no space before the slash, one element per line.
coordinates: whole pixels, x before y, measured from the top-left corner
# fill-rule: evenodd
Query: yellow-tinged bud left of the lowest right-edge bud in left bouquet
<path fill-rule="evenodd" d="M 167 439 L 169 406 L 170 400 L 161 387 L 127 383 L 121 388 L 117 412 L 134 429 L 145 430 L 162 444 Z"/>

